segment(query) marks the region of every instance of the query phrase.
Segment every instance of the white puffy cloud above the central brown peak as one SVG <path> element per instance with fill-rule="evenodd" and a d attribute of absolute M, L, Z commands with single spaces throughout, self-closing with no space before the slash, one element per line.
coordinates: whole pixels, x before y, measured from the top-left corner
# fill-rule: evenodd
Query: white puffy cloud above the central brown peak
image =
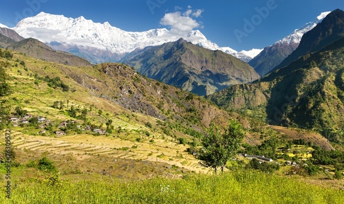
<path fill-rule="evenodd" d="M 161 25 L 166 25 L 171 27 L 171 32 L 178 34 L 185 34 L 190 32 L 196 27 L 201 27 L 200 22 L 197 22 L 193 18 L 198 18 L 203 10 L 191 10 L 191 6 L 188 6 L 186 12 L 171 12 L 166 13 L 164 17 L 160 20 Z"/>

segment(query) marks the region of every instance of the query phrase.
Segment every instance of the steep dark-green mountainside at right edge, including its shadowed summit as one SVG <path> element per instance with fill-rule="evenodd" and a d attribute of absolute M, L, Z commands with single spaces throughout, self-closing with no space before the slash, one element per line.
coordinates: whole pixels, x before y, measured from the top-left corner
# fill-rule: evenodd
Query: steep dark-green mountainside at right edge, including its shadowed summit
<path fill-rule="evenodd" d="M 303 36 L 297 54 L 319 51 L 306 53 L 252 84 L 235 85 L 215 93 L 211 100 L 226 109 L 251 109 L 266 114 L 270 124 L 311 128 L 330 141 L 343 142 L 343 24 L 343 11 L 328 14 Z"/>

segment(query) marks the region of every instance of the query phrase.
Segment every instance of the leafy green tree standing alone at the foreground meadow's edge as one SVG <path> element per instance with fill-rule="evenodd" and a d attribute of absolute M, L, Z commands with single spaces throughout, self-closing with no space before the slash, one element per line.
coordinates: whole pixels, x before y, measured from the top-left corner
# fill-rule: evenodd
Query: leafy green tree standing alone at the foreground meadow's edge
<path fill-rule="evenodd" d="M 215 169 L 221 167 L 222 172 L 229 159 L 233 158 L 244 139 L 244 128 L 236 120 L 230 120 L 228 129 L 221 131 L 219 127 L 211 124 L 208 135 L 202 138 L 202 148 L 199 159 L 202 164 Z"/>

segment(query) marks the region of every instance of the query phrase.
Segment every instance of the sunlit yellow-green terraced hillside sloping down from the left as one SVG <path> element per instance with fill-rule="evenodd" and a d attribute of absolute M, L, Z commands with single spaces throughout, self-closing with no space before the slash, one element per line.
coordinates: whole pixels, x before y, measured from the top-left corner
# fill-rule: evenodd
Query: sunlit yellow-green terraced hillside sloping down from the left
<path fill-rule="evenodd" d="M 28 124 L 8 122 L 17 150 L 73 155 L 80 161 L 105 157 L 154 162 L 172 170 L 208 172 L 186 149 L 192 142 L 197 144 L 211 122 L 226 124 L 230 118 L 210 102 L 144 78 L 122 64 L 70 67 L 17 52 L 12 58 L 1 58 L 0 63 L 12 77 L 13 89 L 7 98 L 10 114 L 3 122 L 17 116 L 17 107 L 31 118 L 50 121 L 45 126 L 31 120 Z M 81 117 L 83 111 L 85 117 Z M 76 125 L 61 127 L 63 122 Z M 92 130 L 83 130 L 85 126 Z M 107 132 L 99 135 L 93 131 L 97 128 Z M 65 135 L 56 135 L 56 131 Z M 103 166 L 98 168 L 103 170 Z M 83 166 L 78 170 L 87 172 Z"/>

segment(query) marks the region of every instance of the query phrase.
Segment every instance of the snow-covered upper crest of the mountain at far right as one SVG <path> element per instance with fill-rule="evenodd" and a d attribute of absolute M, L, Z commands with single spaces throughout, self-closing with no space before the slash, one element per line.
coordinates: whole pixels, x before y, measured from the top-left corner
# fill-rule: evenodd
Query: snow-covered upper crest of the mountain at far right
<path fill-rule="evenodd" d="M 303 34 L 312 30 L 318 23 L 321 23 L 321 21 L 323 21 L 323 19 L 325 19 L 327 14 L 330 14 L 330 12 L 322 12 L 319 16 L 316 17 L 316 19 L 313 22 L 306 23 L 303 27 L 294 30 L 294 32 L 292 34 L 290 34 L 289 36 L 286 36 L 285 38 L 283 38 L 279 41 L 277 41 L 275 43 L 275 45 L 300 43 Z"/>

